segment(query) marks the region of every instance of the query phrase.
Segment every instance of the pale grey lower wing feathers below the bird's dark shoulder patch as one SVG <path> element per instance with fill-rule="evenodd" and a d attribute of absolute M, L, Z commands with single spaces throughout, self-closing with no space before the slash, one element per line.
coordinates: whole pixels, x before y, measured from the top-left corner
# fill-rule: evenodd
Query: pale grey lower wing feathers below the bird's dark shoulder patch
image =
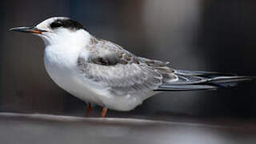
<path fill-rule="evenodd" d="M 152 91 L 162 85 L 162 75 L 138 64 L 101 66 L 91 63 L 80 64 L 85 77 L 98 84 L 99 88 L 123 95 L 138 91 Z"/>

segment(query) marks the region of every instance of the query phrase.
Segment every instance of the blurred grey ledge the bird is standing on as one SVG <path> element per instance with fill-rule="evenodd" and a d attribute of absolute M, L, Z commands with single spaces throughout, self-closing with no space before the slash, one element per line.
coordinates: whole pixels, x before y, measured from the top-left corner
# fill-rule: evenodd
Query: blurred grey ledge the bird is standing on
<path fill-rule="evenodd" d="M 134 118 L 0 114 L 1 143 L 255 143 L 255 126 L 206 125 Z"/>

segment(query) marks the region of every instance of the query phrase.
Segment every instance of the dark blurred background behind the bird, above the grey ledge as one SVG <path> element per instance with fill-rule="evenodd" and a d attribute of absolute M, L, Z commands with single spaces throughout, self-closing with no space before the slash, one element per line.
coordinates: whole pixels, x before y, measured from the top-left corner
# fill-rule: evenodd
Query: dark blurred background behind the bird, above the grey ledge
<path fill-rule="evenodd" d="M 0 111 L 85 115 L 84 102 L 51 81 L 44 44 L 8 31 L 54 16 L 82 22 L 91 34 L 134 54 L 170 61 L 183 70 L 256 75 L 256 1 L 244 0 L 2 0 Z M 217 91 L 165 92 L 120 115 L 253 118 L 255 82 Z M 98 114 L 96 107 L 94 114 Z M 99 115 L 99 114 L 98 114 Z"/>

